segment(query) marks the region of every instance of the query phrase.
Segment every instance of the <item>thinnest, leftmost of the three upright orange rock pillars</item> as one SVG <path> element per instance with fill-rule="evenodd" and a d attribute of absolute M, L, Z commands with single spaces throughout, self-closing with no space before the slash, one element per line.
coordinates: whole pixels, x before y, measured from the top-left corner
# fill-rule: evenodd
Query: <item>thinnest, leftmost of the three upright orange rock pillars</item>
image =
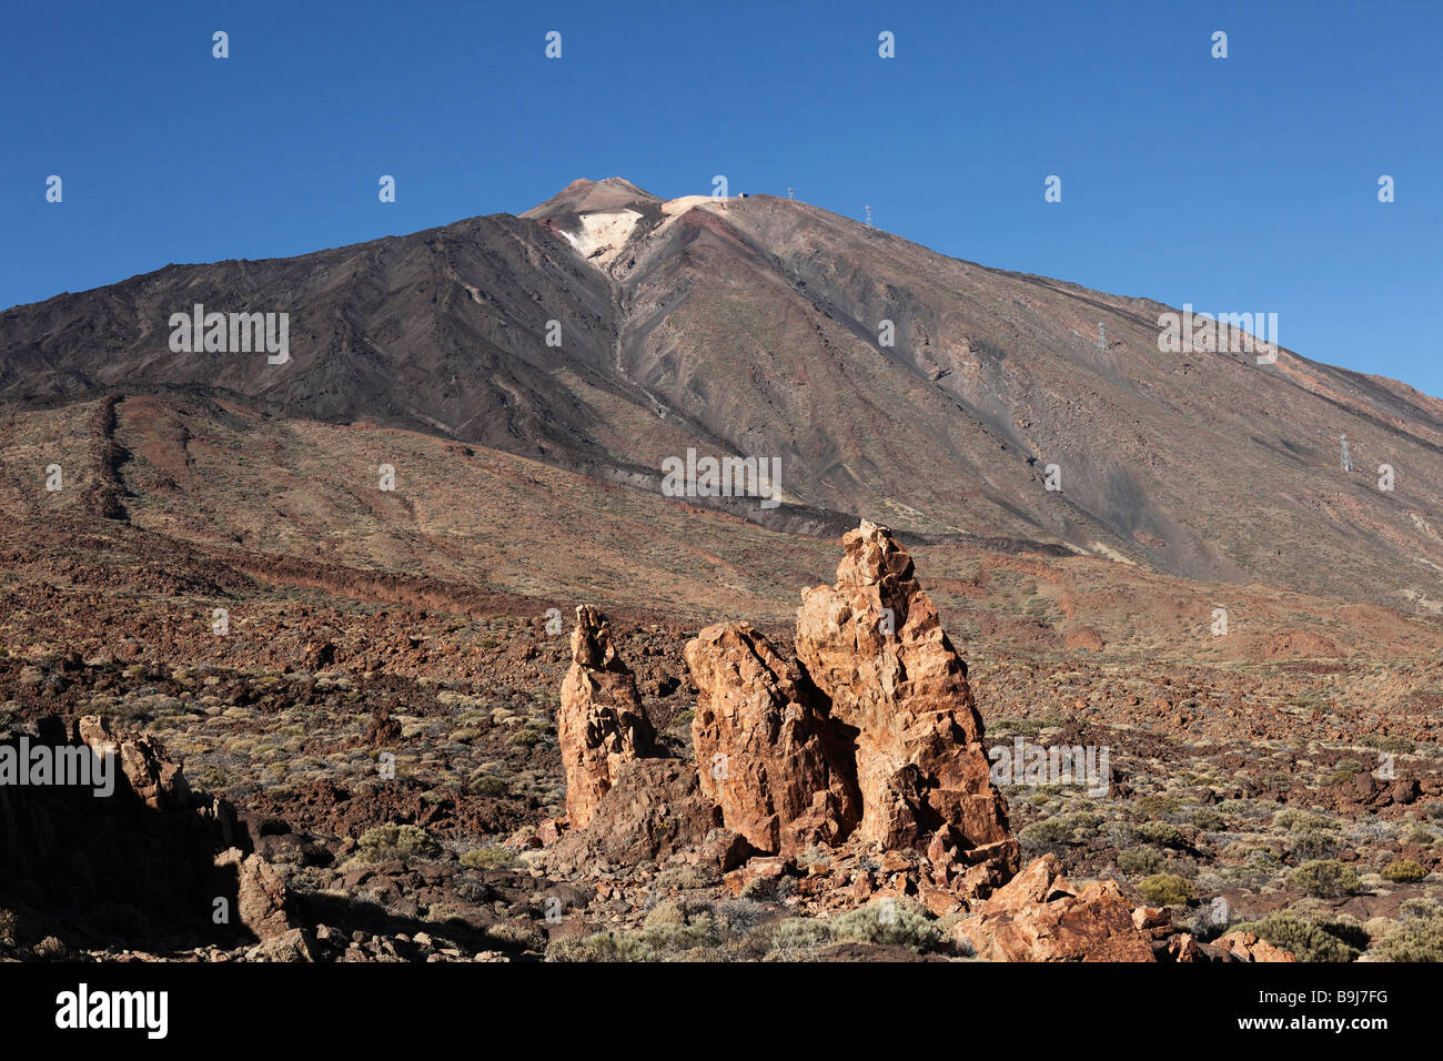
<path fill-rule="evenodd" d="M 622 764 L 658 755 L 657 730 L 641 706 L 636 678 L 616 655 L 606 616 L 590 605 L 576 609 L 557 738 L 566 765 L 566 811 L 576 829 L 590 824 Z"/>

